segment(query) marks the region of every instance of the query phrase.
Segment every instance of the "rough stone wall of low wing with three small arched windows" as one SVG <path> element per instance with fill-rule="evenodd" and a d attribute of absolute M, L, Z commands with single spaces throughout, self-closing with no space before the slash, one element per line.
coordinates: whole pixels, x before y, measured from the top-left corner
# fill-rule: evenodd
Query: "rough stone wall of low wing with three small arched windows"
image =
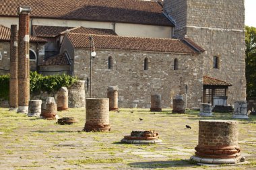
<path fill-rule="evenodd" d="M 150 108 L 150 96 L 154 93 L 162 95 L 162 108 L 167 108 L 170 91 L 174 95 L 184 94 L 188 83 L 188 107 L 199 107 L 203 91 L 201 55 L 125 50 L 96 50 L 96 53 L 92 62 L 92 97 L 106 97 L 108 86 L 118 86 L 119 108 L 129 108 L 132 103 L 137 103 L 139 108 Z M 108 56 L 113 57 L 113 69 L 108 69 Z M 145 71 L 146 57 L 148 70 Z M 176 71 L 174 58 L 179 62 Z M 75 49 L 74 75 L 90 79 L 89 50 Z"/>

